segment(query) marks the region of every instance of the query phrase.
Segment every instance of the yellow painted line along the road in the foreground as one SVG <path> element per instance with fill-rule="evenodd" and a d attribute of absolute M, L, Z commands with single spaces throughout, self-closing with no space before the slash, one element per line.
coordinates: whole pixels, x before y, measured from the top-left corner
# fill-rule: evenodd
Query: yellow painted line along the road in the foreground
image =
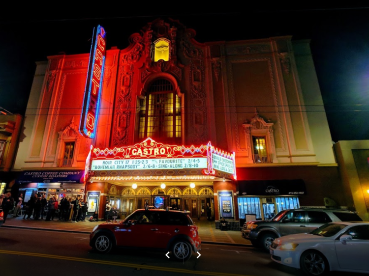
<path fill-rule="evenodd" d="M 229 274 L 229 273 L 207 272 L 207 271 L 192 271 L 192 270 L 187 270 L 187 269 L 166 268 L 166 267 L 149 266 L 149 265 L 136 265 L 136 264 L 129 264 L 129 263 L 120 263 L 120 262 L 94 260 L 94 259 L 68 257 L 68 256 L 58 256 L 58 255 L 49 255 L 49 254 L 41 254 L 41 253 L 20 252 L 20 251 L 0 250 L 0 254 L 24 255 L 24 256 L 32 256 L 32 257 L 59 259 L 59 260 L 66 260 L 66 261 L 76 261 L 76 262 L 86 262 L 86 263 L 103 264 L 103 265 L 114 265 L 114 266 L 131 267 L 131 268 L 151 269 L 151 270 L 168 271 L 168 272 L 176 272 L 176 273 L 186 273 L 186 274 L 198 274 L 198 275 L 210 275 L 210 276 L 246 276 L 246 275 L 240 275 L 240 274 Z"/>

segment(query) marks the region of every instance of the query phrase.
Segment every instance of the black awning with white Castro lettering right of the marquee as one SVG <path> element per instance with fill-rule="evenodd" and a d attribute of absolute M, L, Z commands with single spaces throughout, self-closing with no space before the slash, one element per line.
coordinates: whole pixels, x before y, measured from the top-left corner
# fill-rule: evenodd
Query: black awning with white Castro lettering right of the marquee
<path fill-rule="evenodd" d="M 302 179 L 284 180 L 241 180 L 238 195 L 303 195 L 306 194 Z"/>

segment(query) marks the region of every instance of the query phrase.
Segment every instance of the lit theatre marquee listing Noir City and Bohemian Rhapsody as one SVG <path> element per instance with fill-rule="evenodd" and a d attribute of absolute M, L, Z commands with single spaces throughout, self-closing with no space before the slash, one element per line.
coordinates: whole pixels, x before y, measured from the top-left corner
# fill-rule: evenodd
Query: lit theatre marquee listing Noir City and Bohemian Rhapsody
<path fill-rule="evenodd" d="M 90 180 L 236 180 L 235 154 L 211 145 L 166 145 L 147 138 L 133 146 L 92 150 Z"/>

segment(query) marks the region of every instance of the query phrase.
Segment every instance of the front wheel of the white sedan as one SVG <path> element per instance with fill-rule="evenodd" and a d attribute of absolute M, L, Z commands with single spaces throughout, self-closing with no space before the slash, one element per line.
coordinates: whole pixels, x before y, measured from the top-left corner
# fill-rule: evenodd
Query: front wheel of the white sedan
<path fill-rule="evenodd" d="M 329 271 L 329 265 L 324 255 L 318 251 L 306 251 L 301 255 L 300 268 L 307 275 L 321 276 Z"/>

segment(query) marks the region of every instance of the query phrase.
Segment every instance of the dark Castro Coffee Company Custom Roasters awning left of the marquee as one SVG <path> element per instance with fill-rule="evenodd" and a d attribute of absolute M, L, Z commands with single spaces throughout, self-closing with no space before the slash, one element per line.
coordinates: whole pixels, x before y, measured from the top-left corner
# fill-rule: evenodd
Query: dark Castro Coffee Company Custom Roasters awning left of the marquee
<path fill-rule="evenodd" d="M 84 183 L 84 170 L 28 170 L 20 172 L 16 183 Z"/>

